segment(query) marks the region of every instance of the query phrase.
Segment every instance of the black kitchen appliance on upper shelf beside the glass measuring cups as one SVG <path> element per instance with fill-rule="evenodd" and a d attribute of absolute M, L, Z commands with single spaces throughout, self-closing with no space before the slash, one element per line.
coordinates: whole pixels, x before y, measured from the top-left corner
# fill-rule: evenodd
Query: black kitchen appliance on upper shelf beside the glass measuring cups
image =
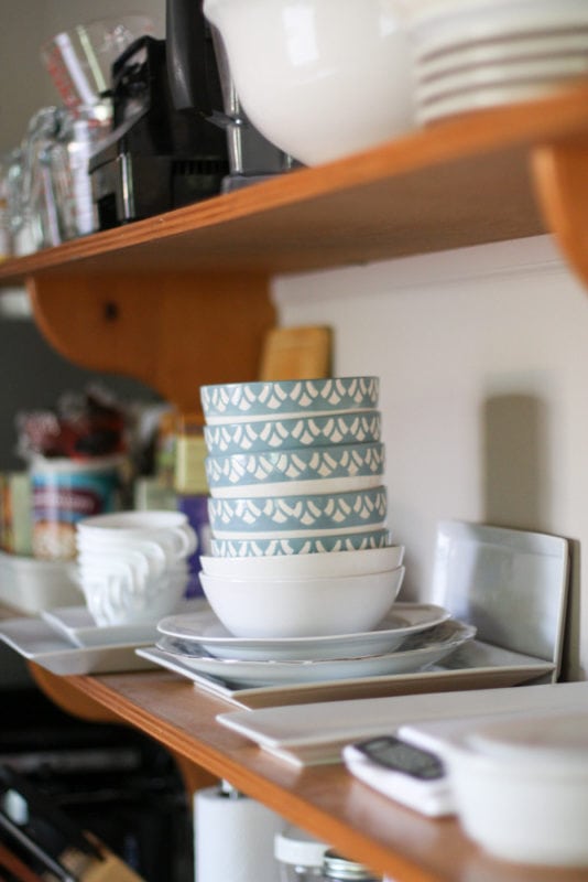
<path fill-rule="evenodd" d="M 112 66 L 112 131 L 88 168 L 100 229 L 214 196 L 229 173 L 210 29 L 194 0 L 187 13 L 168 0 L 166 40 L 141 36 Z"/>

